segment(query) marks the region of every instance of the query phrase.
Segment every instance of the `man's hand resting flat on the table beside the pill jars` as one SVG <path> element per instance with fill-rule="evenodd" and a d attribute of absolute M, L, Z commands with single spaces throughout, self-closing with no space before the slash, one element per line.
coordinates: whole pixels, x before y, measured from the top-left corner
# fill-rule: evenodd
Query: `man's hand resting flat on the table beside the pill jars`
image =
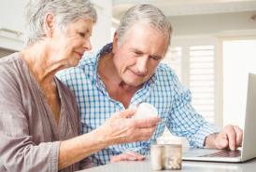
<path fill-rule="evenodd" d="M 145 160 L 145 156 L 137 153 L 137 152 L 124 152 L 116 156 L 112 156 L 110 158 L 111 163 L 116 163 L 120 161 L 143 161 Z"/>

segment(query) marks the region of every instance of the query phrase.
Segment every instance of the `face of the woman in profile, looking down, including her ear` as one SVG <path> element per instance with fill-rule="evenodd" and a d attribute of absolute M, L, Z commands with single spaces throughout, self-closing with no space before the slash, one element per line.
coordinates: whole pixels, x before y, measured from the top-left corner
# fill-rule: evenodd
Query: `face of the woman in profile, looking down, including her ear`
<path fill-rule="evenodd" d="M 92 20 L 78 19 L 63 30 L 55 29 L 50 40 L 50 57 L 53 63 L 61 63 L 64 68 L 78 65 L 83 53 L 92 49 Z"/>

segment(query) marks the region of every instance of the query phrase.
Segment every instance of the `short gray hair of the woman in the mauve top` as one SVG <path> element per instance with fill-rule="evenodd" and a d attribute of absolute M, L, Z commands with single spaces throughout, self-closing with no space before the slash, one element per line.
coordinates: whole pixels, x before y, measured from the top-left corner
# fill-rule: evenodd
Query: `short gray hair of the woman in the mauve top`
<path fill-rule="evenodd" d="M 44 20 L 47 14 L 53 15 L 54 26 L 62 30 L 78 19 L 97 20 L 96 10 L 90 0 L 27 0 L 26 45 L 34 44 L 46 35 Z"/>

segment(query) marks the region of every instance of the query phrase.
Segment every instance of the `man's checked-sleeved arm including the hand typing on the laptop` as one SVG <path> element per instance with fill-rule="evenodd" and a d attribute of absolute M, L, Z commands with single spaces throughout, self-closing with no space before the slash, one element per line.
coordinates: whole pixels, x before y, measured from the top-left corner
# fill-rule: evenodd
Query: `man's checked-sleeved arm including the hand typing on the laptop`
<path fill-rule="evenodd" d="M 218 132 L 216 126 L 206 122 L 191 104 L 192 96 L 188 89 L 173 77 L 174 91 L 172 112 L 167 127 L 178 136 L 189 139 L 191 146 L 211 149 L 229 148 L 235 150 L 242 143 L 243 131 L 238 126 L 225 126 Z"/>

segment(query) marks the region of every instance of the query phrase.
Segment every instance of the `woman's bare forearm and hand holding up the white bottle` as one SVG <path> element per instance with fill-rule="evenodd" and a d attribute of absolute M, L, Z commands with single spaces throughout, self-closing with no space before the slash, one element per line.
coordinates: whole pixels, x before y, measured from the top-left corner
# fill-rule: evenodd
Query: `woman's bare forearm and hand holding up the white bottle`
<path fill-rule="evenodd" d="M 149 139 L 160 119 L 135 120 L 130 118 L 134 112 L 135 110 L 117 112 L 92 132 L 62 141 L 59 168 L 76 163 L 112 144 Z"/>

